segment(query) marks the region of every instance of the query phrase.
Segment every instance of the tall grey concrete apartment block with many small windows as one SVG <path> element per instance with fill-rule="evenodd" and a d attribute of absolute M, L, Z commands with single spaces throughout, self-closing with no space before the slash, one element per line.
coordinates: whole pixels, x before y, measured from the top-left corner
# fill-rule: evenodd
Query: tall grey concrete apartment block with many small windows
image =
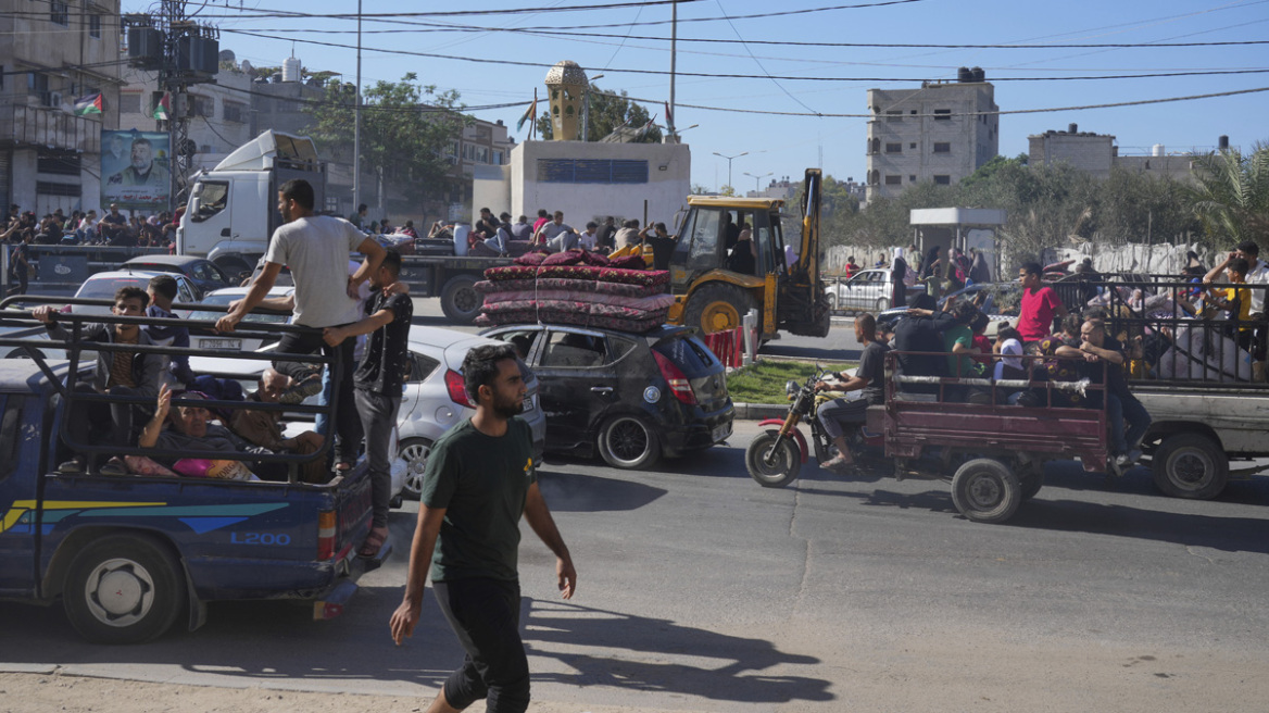
<path fill-rule="evenodd" d="M 996 156 L 1000 108 L 982 70 L 921 89 L 869 89 L 867 198 L 893 198 L 919 181 L 950 185 Z"/>

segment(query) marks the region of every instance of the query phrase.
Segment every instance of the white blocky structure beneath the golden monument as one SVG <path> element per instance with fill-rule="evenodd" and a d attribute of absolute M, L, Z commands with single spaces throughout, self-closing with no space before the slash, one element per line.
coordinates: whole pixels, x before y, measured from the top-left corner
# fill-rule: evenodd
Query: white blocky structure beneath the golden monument
<path fill-rule="evenodd" d="M 685 143 L 527 141 L 511 148 L 510 165 L 476 170 L 473 204 L 513 216 L 563 211 L 581 231 L 605 216 L 673 225 L 690 192 Z"/>

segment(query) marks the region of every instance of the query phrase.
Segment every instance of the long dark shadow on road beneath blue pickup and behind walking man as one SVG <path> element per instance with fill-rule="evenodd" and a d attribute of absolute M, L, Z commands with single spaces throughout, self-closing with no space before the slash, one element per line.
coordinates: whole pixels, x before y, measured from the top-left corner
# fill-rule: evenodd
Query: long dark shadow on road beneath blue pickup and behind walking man
<path fill-rule="evenodd" d="M 310 609 L 294 604 L 218 603 L 209 606 L 207 625 L 198 632 L 174 631 L 148 644 L 119 647 L 79 641 L 61 608 L 6 605 L 0 612 L 0 627 L 23 644 L 5 647 L 0 661 L 100 664 L 110 667 L 94 669 L 93 675 L 197 685 L 301 690 L 355 686 L 358 693 L 430 697 L 414 686 L 438 689 L 462 664 L 463 651 L 430 594 L 424 599 L 414 637 L 396 647 L 387 623 L 400 598 L 400 587 L 364 587 L 353 606 L 331 622 L 312 622 Z M 816 665 L 819 658 L 782 652 L 761 638 L 571 603 L 524 598 L 522 608 L 530 667 L 537 669 L 534 684 L 746 703 L 832 699 L 827 680 L 770 671 L 777 666 Z M 563 666 L 534 664 L 533 657 L 552 658 Z M 376 688 L 376 683 L 382 685 Z"/>

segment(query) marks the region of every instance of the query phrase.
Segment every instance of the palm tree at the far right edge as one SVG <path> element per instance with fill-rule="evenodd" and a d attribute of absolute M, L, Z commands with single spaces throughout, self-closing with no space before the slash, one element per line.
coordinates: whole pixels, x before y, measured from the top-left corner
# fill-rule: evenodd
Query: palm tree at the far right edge
<path fill-rule="evenodd" d="M 1258 142 L 1249 156 L 1237 148 L 1208 154 L 1195 169 L 1194 212 L 1209 237 L 1269 241 L 1269 145 Z"/>

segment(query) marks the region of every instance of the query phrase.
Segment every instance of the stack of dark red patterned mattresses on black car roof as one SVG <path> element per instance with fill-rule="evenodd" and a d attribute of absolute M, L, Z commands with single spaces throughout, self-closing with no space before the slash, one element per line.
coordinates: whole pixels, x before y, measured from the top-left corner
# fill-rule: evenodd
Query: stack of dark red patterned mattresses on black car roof
<path fill-rule="evenodd" d="M 646 332 L 665 324 L 674 297 L 670 273 L 604 264 L 582 251 L 516 259 L 485 270 L 476 289 L 485 294 L 478 325 L 566 324 Z M 642 264 L 642 259 L 640 259 Z"/>

